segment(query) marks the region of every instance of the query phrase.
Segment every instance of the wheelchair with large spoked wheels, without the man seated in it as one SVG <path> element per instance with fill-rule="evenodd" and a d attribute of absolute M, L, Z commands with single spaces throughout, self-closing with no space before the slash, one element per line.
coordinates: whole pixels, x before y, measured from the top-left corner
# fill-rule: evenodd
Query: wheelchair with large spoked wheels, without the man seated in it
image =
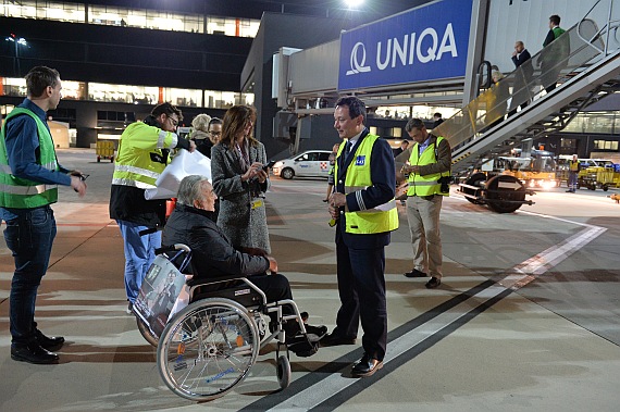
<path fill-rule="evenodd" d="M 175 272 L 185 282 L 183 273 L 190 260 L 191 250 L 185 245 L 160 249 L 146 277 Z M 161 333 L 152 320 L 139 313 L 139 304 L 134 304 L 138 329 L 157 346 L 157 365 L 165 385 L 193 401 L 222 397 L 248 376 L 259 350 L 275 339 L 277 382 L 281 389 L 288 387 L 290 358 L 283 324 L 297 321 L 308 340 L 295 301 L 268 303 L 264 292 L 247 277 L 190 279 L 187 285 L 189 304 L 171 315 Z M 283 305 L 289 305 L 294 313 L 285 315 Z M 269 314 L 275 314 L 277 322 L 268 324 L 263 316 Z M 159 322 L 163 323 L 161 319 Z M 313 350 L 310 354 L 314 353 L 318 345 L 308 344 Z"/>

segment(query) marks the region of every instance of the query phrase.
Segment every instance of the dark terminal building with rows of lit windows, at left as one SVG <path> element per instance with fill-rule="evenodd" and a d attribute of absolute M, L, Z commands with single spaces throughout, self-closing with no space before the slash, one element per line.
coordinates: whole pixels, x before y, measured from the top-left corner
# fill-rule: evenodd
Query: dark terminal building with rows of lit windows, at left
<path fill-rule="evenodd" d="M 163 101 L 183 110 L 185 124 L 198 113 L 223 116 L 233 104 L 253 103 L 252 85 L 241 88 L 240 74 L 263 14 L 328 17 L 339 25 L 331 30 L 337 36 L 418 3 L 2 0 L 0 113 L 25 97 L 28 70 L 48 65 L 63 79 L 63 100 L 50 116 L 69 126 L 66 145 L 119 138 Z M 317 32 L 300 46 L 332 39 L 324 36 Z"/>

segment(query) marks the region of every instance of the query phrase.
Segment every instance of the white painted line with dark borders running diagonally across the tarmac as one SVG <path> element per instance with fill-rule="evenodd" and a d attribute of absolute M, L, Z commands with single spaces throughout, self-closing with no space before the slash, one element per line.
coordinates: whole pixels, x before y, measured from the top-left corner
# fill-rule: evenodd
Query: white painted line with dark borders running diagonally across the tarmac
<path fill-rule="evenodd" d="M 538 216 L 556 219 L 540 214 Z M 363 349 L 358 348 L 295 380 L 288 389 L 264 397 L 241 410 L 333 410 L 430 349 L 498 301 L 528 285 L 606 230 L 604 227 L 562 219 L 556 220 L 585 228 L 516 265 L 507 271 L 507 275 L 503 278 L 483 282 L 475 288 L 460 294 L 390 332 L 384 370 L 379 371 L 373 377 L 365 379 L 350 377 L 350 364 L 362 355 Z M 509 287 L 501 283 L 508 284 Z M 295 395 L 288 396 L 289 394 Z"/>

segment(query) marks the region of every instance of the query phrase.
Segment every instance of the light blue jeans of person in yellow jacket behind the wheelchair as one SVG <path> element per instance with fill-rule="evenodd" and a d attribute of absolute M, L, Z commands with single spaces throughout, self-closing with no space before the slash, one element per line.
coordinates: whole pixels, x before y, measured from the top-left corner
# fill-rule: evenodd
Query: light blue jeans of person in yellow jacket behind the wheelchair
<path fill-rule="evenodd" d="M 125 249 L 125 291 L 127 300 L 135 302 L 142 279 L 154 260 L 154 250 L 161 247 L 161 232 L 140 236 L 141 230 L 149 227 L 132 222 L 116 220 Z"/>

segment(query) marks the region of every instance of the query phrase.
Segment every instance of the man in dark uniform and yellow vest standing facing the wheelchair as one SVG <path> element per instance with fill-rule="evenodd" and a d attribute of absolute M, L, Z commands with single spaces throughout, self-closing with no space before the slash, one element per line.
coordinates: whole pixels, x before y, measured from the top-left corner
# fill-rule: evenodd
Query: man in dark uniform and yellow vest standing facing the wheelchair
<path fill-rule="evenodd" d="M 359 322 L 364 354 L 352 376 L 373 375 L 383 366 L 387 346 L 385 252 L 398 228 L 394 157 L 387 141 L 364 126 L 365 105 L 356 97 L 340 98 L 334 111 L 340 145 L 330 213 L 337 221 L 336 259 L 340 309 L 336 327 L 323 346 L 354 345 Z"/>

